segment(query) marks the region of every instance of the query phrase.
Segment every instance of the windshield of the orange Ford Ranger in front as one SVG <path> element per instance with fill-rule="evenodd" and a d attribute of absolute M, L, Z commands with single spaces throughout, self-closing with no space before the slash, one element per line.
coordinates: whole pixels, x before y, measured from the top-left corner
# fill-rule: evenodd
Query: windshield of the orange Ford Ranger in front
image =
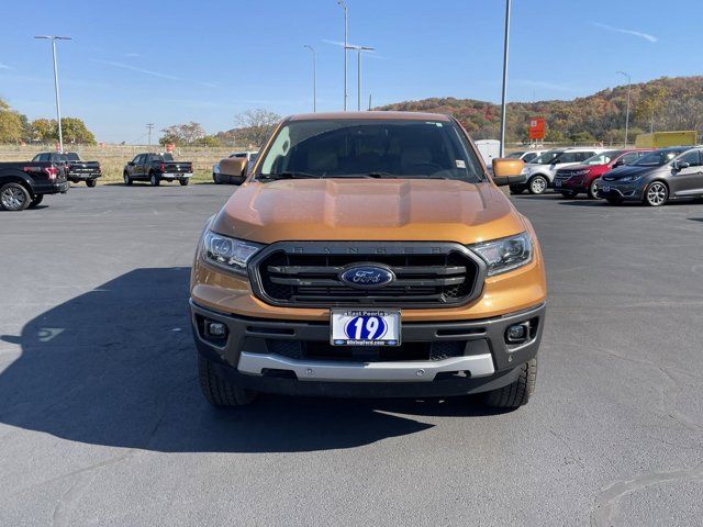
<path fill-rule="evenodd" d="M 447 121 L 290 121 L 263 153 L 261 179 L 383 177 L 482 180 L 481 165 Z"/>

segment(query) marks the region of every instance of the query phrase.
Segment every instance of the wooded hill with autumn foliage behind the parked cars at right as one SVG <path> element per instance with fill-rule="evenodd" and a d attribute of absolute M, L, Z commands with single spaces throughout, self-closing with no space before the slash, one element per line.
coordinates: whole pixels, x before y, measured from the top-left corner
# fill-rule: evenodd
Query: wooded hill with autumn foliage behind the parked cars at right
<path fill-rule="evenodd" d="M 529 117 L 546 119 L 547 142 L 622 142 L 625 137 L 627 86 L 601 90 L 571 101 L 511 102 L 506 142 L 527 141 Z M 703 136 L 703 76 L 662 77 L 631 87 L 629 137 L 637 133 L 696 130 Z M 473 99 L 423 99 L 375 110 L 447 113 L 457 117 L 475 139 L 498 138 L 500 105 Z"/>

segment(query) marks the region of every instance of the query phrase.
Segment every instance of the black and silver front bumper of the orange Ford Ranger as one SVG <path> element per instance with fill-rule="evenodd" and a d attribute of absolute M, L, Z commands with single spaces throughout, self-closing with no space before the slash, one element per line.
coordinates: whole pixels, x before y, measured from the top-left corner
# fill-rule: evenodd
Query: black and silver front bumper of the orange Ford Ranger
<path fill-rule="evenodd" d="M 510 384 L 517 368 L 537 355 L 545 304 L 493 318 L 422 323 L 405 322 L 403 345 L 453 343 L 460 355 L 439 360 L 377 360 L 290 357 L 289 345 L 324 345 L 330 325 L 317 321 L 270 321 L 233 316 L 190 302 L 198 351 L 217 373 L 252 390 L 334 396 L 448 396 L 478 393 Z M 213 339 L 204 321 L 221 322 L 227 336 Z M 527 341 L 509 345 L 509 326 L 529 321 Z M 283 345 L 281 346 L 281 343 Z M 344 348 L 339 348 L 339 354 Z"/>

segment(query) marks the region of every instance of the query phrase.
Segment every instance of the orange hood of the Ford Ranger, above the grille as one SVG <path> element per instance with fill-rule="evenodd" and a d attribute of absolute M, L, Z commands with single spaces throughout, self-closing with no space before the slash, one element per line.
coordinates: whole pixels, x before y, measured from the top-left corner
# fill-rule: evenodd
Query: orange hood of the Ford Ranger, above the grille
<path fill-rule="evenodd" d="M 491 183 L 304 179 L 244 183 L 213 231 L 259 243 L 425 240 L 470 244 L 525 231 Z"/>

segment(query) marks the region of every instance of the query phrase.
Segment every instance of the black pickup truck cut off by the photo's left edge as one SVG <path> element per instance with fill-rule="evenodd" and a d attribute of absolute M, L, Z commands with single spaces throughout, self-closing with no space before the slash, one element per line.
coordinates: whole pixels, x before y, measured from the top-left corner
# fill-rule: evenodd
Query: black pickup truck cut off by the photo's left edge
<path fill-rule="evenodd" d="M 69 186 L 64 164 L 0 162 L 0 208 L 5 211 L 33 209 L 45 194 L 65 193 Z"/>

